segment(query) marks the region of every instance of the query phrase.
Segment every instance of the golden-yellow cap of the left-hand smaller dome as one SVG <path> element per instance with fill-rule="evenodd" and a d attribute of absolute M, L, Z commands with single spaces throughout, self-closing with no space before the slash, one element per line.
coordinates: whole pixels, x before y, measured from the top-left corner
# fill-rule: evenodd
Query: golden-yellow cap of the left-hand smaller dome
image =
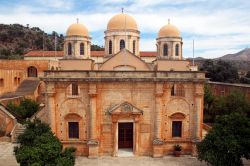
<path fill-rule="evenodd" d="M 84 25 L 76 23 L 69 26 L 66 36 L 89 36 L 89 31 Z"/>

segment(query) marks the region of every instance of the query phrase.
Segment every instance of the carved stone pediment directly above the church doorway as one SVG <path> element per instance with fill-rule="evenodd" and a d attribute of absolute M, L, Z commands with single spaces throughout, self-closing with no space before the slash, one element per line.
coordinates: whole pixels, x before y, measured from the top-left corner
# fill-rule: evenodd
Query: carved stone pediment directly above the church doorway
<path fill-rule="evenodd" d="M 129 102 L 123 102 L 121 104 L 115 105 L 109 108 L 108 113 L 111 115 L 114 114 L 134 114 L 134 115 L 142 115 L 143 111 Z"/>

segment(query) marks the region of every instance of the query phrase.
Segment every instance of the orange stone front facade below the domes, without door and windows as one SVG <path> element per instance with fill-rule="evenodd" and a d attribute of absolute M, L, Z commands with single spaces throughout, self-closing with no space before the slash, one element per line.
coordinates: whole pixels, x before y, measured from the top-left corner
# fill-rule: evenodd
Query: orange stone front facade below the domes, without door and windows
<path fill-rule="evenodd" d="M 55 75 L 56 74 L 56 75 Z M 135 155 L 160 157 L 180 144 L 191 154 L 202 139 L 204 73 L 197 72 L 45 72 L 50 125 L 64 146 L 78 155 L 118 153 L 118 124 L 131 122 Z M 70 77 L 74 76 L 74 78 Z M 79 94 L 69 86 L 77 82 Z M 171 96 L 174 84 L 184 96 Z M 68 137 L 68 122 L 79 122 L 79 138 Z M 172 121 L 182 121 L 182 136 L 172 137 Z"/>

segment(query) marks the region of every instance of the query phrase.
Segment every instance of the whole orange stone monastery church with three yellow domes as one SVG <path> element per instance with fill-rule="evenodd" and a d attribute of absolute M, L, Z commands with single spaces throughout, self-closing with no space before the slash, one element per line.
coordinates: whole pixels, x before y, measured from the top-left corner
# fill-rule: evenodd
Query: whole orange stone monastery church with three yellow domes
<path fill-rule="evenodd" d="M 68 27 L 56 60 L 27 54 L 23 61 L 34 68 L 24 75 L 39 77 L 44 87 L 45 107 L 37 116 L 77 155 L 120 156 L 125 150 L 163 157 L 176 144 L 182 154 L 195 155 L 206 79 L 184 60 L 179 30 L 168 22 L 159 29 L 156 52 L 142 52 L 135 19 L 120 13 L 104 35 L 105 51 L 91 51 L 90 33 L 77 22 Z M 49 67 L 36 67 L 45 58 Z"/>

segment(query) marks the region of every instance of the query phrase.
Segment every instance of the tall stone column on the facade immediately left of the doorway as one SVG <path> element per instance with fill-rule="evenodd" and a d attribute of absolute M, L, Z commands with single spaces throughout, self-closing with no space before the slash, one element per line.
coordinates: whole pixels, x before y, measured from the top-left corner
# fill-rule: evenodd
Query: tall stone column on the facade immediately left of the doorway
<path fill-rule="evenodd" d="M 99 150 L 99 141 L 97 139 L 97 125 L 96 125 L 96 84 L 89 85 L 89 158 L 97 158 Z"/>

